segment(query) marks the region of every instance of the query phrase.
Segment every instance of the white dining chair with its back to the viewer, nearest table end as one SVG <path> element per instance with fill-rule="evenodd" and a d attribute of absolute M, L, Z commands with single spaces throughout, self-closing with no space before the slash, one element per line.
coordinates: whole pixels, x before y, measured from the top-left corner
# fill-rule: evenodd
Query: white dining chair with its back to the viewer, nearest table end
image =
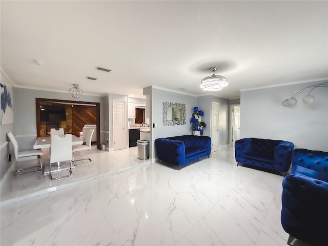
<path fill-rule="evenodd" d="M 51 135 L 49 176 L 51 179 L 59 179 L 72 176 L 72 134 Z M 60 169 L 60 161 L 70 161 L 69 169 Z M 57 170 L 51 171 L 51 163 L 57 162 Z M 69 174 L 53 177 L 52 173 L 69 171 Z"/>

